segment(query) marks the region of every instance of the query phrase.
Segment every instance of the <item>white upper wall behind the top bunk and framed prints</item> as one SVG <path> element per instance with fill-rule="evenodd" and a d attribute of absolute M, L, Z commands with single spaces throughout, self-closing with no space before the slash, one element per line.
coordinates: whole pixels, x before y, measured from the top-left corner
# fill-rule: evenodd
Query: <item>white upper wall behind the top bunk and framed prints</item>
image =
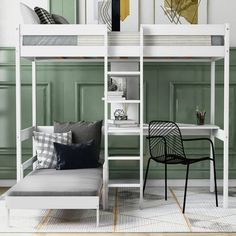
<path fill-rule="evenodd" d="M 15 27 L 19 23 L 19 0 L 0 0 L 0 47 L 14 47 Z M 34 6 L 47 8 L 48 0 L 21 0 Z M 78 0 L 85 6 L 85 0 Z M 91 1 L 91 0 L 87 0 Z M 207 0 L 202 0 L 207 1 Z M 80 4 L 78 4 L 80 6 Z M 154 0 L 141 0 L 140 22 L 154 23 Z M 231 47 L 236 47 L 236 0 L 208 0 L 208 23 L 230 23 Z M 84 23 L 84 11 L 79 10 L 79 20 Z"/>

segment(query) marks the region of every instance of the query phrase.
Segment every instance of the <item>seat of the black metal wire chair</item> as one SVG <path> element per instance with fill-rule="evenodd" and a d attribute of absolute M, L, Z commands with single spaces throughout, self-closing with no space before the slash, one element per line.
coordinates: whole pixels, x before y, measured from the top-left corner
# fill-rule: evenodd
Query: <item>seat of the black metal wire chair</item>
<path fill-rule="evenodd" d="M 192 164 L 199 161 L 211 160 L 210 157 L 200 157 L 200 158 L 185 158 L 178 155 L 168 155 L 165 159 L 165 156 L 151 157 L 154 161 L 166 164 Z"/>

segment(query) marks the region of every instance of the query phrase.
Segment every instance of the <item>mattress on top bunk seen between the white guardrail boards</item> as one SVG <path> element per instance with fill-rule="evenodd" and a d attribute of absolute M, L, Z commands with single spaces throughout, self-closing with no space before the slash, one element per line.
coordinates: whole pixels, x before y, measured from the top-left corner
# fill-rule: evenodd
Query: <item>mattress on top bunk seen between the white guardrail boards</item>
<path fill-rule="evenodd" d="M 25 46 L 102 46 L 103 36 L 23 36 Z M 139 46 L 139 32 L 109 32 L 109 46 Z M 222 46 L 223 36 L 186 35 L 145 35 L 145 46 Z"/>

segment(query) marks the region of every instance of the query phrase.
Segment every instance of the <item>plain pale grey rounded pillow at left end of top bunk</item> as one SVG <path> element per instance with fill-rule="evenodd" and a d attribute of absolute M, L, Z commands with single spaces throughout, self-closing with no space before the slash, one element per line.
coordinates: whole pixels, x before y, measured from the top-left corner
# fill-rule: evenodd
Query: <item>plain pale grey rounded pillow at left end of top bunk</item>
<path fill-rule="evenodd" d="M 20 13 L 24 24 L 40 24 L 40 20 L 34 10 L 22 2 L 20 3 Z"/>

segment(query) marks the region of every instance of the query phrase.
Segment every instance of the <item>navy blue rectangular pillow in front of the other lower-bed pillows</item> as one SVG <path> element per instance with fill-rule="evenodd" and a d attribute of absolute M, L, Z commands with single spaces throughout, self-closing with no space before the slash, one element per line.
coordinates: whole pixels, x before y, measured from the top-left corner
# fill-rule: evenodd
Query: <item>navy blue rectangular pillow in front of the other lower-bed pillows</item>
<path fill-rule="evenodd" d="M 79 144 L 54 143 L 57 155 L 57 170 L 97 168 L 100 166 L 94 140 Z"/>

